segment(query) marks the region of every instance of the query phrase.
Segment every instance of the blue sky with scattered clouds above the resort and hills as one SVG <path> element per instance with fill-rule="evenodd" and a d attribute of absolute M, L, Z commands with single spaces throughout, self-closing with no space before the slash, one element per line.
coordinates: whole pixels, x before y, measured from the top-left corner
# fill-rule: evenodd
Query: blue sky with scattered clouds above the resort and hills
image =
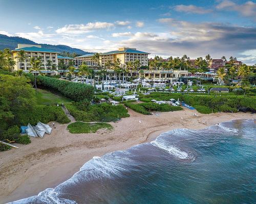
<path fill-rule="evenodd" d="M 118 47 L 167 58 L 256 63 L 256 1 L 0 0 L 0 34 L 87 52 Z"/>

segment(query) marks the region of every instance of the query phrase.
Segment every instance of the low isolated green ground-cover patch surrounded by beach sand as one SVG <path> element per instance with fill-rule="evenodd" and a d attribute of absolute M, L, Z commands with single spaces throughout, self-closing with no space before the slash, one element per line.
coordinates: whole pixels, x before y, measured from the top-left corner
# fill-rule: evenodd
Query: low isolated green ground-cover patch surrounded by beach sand
<path fill-rule="evenodd" d="M 88 122 L 73 122 L 68 125 L 70 133 L 96 133 L 99 129 L 112 130 L 113 126 L 104 122 L 88 123 Z"/>

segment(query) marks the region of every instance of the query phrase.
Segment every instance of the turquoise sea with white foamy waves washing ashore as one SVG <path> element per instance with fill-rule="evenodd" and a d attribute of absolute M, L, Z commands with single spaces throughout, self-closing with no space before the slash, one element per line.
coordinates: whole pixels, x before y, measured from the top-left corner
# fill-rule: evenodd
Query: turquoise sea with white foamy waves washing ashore
<path fill-rule="evenodd" d="M 14 203 L 255 203 L 256 123 L 177 129 L 94 157 L 73 177 Z"/>

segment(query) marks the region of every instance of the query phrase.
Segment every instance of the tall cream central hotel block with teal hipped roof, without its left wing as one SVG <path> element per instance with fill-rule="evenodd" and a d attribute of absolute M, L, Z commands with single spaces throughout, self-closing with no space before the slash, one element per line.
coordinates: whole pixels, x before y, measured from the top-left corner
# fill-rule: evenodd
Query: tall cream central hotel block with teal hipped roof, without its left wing
<path fill-rule="evenodd" d="M 136 48 L 121 47 L 118 50 L 100 54 L 100 63 L 104 66 L 109 60 L 111 63 L 114 63 L 119 58 L 122 65 L 126 65 L 130 61 L 139 60 L 140 65 L 145 66 L 148 64 L 148 55 L 150 53 L 139 51 Z"/>

